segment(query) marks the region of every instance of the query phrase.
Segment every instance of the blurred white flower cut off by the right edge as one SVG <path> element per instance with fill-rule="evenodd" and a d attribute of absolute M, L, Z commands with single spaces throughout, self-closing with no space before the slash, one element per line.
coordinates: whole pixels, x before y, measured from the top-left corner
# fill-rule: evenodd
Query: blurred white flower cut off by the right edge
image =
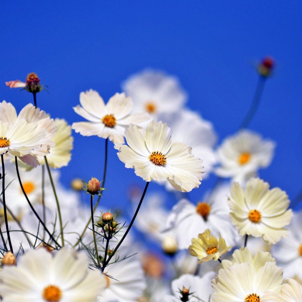
<path fill-rule="evenodd" d="M 271 248 L 278 265 L 283 268 L 285 278 L 297 276 L 302 279 L 302 212 L 295 213 L 289 225 L 289 234 Z"/>

